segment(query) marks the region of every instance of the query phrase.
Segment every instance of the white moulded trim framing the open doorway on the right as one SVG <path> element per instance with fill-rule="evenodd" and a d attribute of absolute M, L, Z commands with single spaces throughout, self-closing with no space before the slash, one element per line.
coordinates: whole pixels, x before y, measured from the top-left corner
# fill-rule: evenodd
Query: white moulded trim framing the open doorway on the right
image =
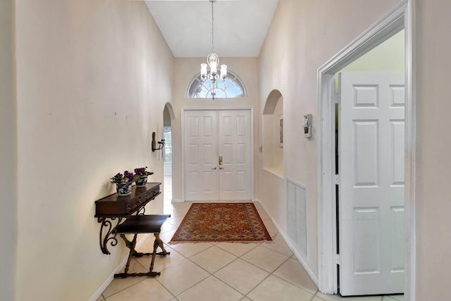
<path fill-rule="evenodd" d="M 414 1 L 402 0 L 383 18 L 354 39 L 318 69 L 318 250 L 319 290 L 337 293 L 336 219 L 335 219 L 335 92 L 334 74 L 385 41 L 399 30 L 405 32 L 405 300 L 415 301 L 415 97 L 414 97 Z"/>

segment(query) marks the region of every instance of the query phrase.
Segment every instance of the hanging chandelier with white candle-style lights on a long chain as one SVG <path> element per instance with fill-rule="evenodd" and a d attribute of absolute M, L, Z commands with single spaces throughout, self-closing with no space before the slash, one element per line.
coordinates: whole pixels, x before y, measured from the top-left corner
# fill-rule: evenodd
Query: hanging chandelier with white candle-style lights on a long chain
<path fill-rule="evenodd" d="M 227 78 L 227 65 L 221 65 L 221 75 L 218 73 L 219 56 L 214 52 L 214 11 L 213 3 L 216 0 L 209 0 L 211 2 L 211 54 L 206 56 L 206 61 L 210 67 L 210 72 L 206 70 L 206 63 L 200 64 L 200 79 L 204 83 L 207 78 L 211 81 L 213 89 L 211 89 L 211 99 L 215 99 L 216 87 L 218 87 L 218 79 L 221 77 L 222 82 Z"/>

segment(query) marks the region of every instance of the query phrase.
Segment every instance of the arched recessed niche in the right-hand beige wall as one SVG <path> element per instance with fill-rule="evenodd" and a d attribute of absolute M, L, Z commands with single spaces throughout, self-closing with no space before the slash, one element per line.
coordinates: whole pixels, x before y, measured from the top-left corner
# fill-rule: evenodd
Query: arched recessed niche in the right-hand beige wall
<path fill-rule="evenodd" d="M 269 93 L 263 110 L 263 168 L 283 178 L 283 96 L 278 90 Z M 282 135 L 282 140 L 281 136 Z"/>

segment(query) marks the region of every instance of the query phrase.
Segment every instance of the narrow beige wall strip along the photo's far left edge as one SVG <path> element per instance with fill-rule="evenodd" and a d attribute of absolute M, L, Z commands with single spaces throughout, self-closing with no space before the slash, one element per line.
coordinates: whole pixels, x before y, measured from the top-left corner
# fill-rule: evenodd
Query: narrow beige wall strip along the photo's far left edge
<path fill-rule="evenodd" d="M 0 299 L 14 300 L 17 216 L 17 118 L 13 1 L 0 1 Z"/>

